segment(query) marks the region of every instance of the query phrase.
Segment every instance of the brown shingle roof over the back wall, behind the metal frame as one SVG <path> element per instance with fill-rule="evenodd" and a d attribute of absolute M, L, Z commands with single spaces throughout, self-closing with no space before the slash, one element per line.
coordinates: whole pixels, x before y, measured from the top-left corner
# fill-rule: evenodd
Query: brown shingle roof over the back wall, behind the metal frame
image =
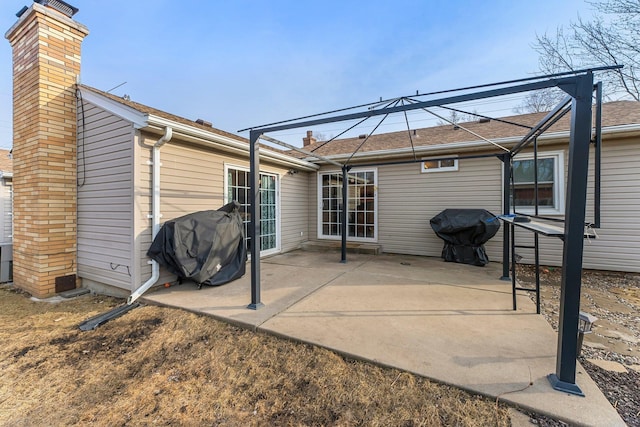
<path fill-rule="evenodd" d="M 531 113 L 501 117 L 500 119 L 526 126 L 534 126 L 544 118 L 547 113 Z M 614 127 L 621 125 L 640 124 L 640 102 L 636 101 L 615 101 L 608 102 L 602 106 L 602 127 Z M 570 125 L 570 114 L 567 114 L 554 124 L 546 133 L 568 131 Z M 461 127 L 469 129 L 478 135 L 489 140 L 500 140 L 505 138 L 518 138 L 526 135 L 528 130 L 524 127 L 514 126 L 508 123 L 491 120 L 487 123 L 466 122 L 460 123 Z M 305 147 L 308 151 L 313 151 L 322 156 L 345 155 L 353 153 L 364 139 L 346 138 L 331 141 L 325 145 L 321 142 Z M 360 148 L 359 153 L 370 153 L 379 151 L 393 151 L 400 149 L 411 149 L 411 142 L 414 147 L 433 147 L 445 144 L 481 141 L 478 137 L 462 128 L 454 129 L 452 125 L 435 126 L 411 130 L 411 140 L 409 132 L 390 132 L 384 134 L 374 134 L 369 137 L 366 143 Z M 487 147 L 491 147 L 486 143 Z M 315 147 L 319 147 L 314 150 Z"/>

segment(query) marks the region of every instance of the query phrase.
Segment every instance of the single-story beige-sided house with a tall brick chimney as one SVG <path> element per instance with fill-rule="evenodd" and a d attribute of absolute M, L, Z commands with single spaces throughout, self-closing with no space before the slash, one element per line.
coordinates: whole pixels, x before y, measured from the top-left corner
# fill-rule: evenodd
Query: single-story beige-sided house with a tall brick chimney
<path fill-rule="evenodd" d="M 72 19 L 72 8 L 56 10 L 64 2 L 46 4 L 32 4 L 6 34 L 14 49 L 14 282 L 39 297 L 75 286 L 128 294 L 151 276 L 146 251 L 154 227 L 232 199 L 247 211 L 249 144 L 202 120 L 76 84 L 88 30 Z M 541 116 L 511 119 L 533 124 Z M 505 146 L 526 132 L 497 121 L 464 127 Z M 548 215 L 563 214 L 567 129 L 561 121 L 539 138 Z M 502 167 L 493 158 L 428 159 L 497 152 L 462 129 L 411 133 L 424 162 L 362 167 L 413 158 L 407 131 L 373 135 L 354 156 L 349 239 L 375 243 L 384 252 L 439 256 L 442 242 L 429 219 L 446 208 L 501 213 Z M 361 142 L 320 147 L 308 135 L 305 148 L 320 147 L 319 154 L 343 161 Z M 600 239 L 585 243 L 586 268 L 640 271 L 639 147 L 640 103 L 606 104 L 602 229 Z M 268 147 L 260 157 L 261 253 L 338 239 L 338 171 Z M 525 169 L 531 162 L 526 154 L 517 162 L 522 173 L 516 199 L 524 204 L 530 199 Z M 588 217 L 591 211 L 592 206 Z M 494 261 L 501 261 L 501 238 L 499 233 L 487 244 Z M 531 236 L 519 232 L 517 238 L 525 242 Z M 541 243 L 542 262 L 559 264 L 559 241 Z M 527 261 L 528 254 L 522 255 Z M 174 279 L 162 270 L 157 283 Z"/>

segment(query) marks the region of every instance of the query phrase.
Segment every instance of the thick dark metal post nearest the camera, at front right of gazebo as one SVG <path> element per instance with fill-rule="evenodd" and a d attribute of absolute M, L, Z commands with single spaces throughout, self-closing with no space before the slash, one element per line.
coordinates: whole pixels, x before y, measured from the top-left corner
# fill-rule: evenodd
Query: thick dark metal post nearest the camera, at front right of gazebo
<path fill-rule="evenodd" d="M 576 384 L 578 356 L 578 321 L 584 250 L 584 224 L 587 205 L 589 145 L 591 143 L 591 113 L 593 74 L 576 76 L 575 84 L 560 86 L 573 96 L 569 168 L 565 207 L 564 244 L 562 252 L 562 282 L 560 288 L 560 318 L 556 372 L 549 375 L 554 389 L 584 396 Z"/>

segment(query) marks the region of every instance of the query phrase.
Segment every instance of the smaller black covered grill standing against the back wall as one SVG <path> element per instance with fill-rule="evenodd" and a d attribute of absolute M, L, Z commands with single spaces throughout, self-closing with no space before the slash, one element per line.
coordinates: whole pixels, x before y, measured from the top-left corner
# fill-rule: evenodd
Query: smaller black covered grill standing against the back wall
<path fill-rule="evenodd" d="M 483 244 L 500 229 L 496 216 L 484 209 L 445 209 L 431 218 L 431 228 L 444 240 L 445 261 L 485 266 L 489 257 Z"/>

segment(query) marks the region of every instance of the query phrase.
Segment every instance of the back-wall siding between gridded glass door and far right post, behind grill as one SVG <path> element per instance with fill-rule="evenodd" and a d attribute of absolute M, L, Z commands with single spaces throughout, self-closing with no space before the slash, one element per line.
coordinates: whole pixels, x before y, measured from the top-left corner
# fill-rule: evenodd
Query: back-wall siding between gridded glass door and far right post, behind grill
<path fill-rule="evenodd" d="M 378 168 L 378 243 L 384 252 L 436 256 L 442 253 L 429 220 L 444 209 L 501 213 L 501 165 L 497 159 L 459 160 L 457 171 L 422 173 L 420 164 Z M 486 245 L 502 260 L 502 235 Z"/>

